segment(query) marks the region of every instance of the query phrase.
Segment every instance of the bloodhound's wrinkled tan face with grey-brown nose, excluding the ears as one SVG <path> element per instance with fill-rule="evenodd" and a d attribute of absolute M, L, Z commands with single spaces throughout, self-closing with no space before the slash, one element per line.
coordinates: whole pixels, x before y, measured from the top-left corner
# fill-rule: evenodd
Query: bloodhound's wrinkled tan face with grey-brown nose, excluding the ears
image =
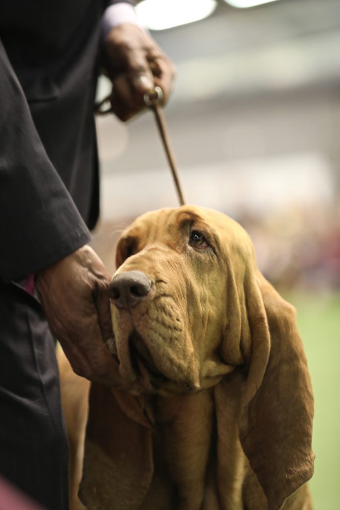
<path fill-rule="evenodd" d="M 242 282 L 252 257 L 240 225 L 192 206 L 147 213 L 123 233 L 110 285 L 113 350 L 133 392 L 197 391 L 242 364 L 240 352 L 223 360 L 221 343 L 227 279 Z"/>

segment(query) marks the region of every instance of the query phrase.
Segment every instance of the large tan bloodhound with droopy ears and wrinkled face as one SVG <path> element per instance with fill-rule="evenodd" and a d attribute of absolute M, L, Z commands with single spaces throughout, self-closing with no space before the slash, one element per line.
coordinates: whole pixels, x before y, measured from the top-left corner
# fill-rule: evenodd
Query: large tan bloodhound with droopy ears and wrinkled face
<path fill-rule="evenodd" d="M 295 311 L 243 228 L 193 206 L 150 212 L 116 261 L 111 350 L 127 391 L 91 386 L 86 508 L 311 510 L 313 399 Z"/>

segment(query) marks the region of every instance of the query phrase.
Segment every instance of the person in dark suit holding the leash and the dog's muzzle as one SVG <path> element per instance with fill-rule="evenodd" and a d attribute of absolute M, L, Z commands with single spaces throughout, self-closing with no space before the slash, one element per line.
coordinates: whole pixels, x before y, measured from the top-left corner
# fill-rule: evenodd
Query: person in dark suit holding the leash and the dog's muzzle
<path fill-rule="evenodd" d="M 54 335 L 76 373 L 120 384 L 104 345 L 110 277 L 87 246 L 98 217 L 98 67 L 121 120 L 154 86 L 167 100 L 173 67 L 130 2 L 3 0 L 0 38 L 0 474 L 66 510 Z"/>

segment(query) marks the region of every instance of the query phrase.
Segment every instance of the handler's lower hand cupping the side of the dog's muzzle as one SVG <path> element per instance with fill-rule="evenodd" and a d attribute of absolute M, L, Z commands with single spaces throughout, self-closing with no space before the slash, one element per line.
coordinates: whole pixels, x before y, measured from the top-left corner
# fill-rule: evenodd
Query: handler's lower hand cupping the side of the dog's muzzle
<path fill-rule="evenodd" d="M 122 387 L 117 363 L 104 341 L 112 337 L 110 283 L 101 260 L 83 246 L 36 276 L 47 320 L 74 372 Z"/>

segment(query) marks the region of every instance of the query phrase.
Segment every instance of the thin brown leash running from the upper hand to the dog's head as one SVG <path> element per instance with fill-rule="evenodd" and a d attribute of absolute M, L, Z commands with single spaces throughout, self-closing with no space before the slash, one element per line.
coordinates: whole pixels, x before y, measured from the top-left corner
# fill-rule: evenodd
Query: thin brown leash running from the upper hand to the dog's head
<path fill-rule="evenodd" d="M 172 177 L 173 177 L 173 180 L 175 183 L 175 188 L 176 188 L 176 192 L 177 192 L 179 205 L 184 206 L 185 201 L 184 201 L 184 197 L 183 197 L 183 193 L 182 193 L 182 189 L 181 189 L 181 185 L 180 185 L 180 181 L 179 181 L 177 165 L 176 165 L 174 153 L 173 153 L 173 150 L 172 150 L 172 147 L 170 144 L 170 139 L 169 139 L 168 132 L 167 132 L 165 117 L 163 115 L 163 111 L 160 106 L 162 98 L 163 98 L 163 91 L 162 91 L 161 87 L 154 87 L 153 90 L 144 94 L 144 103 L 154 113 L 156 125 L 158 127 L 158 130 L 159 130 L 159 133 L 161 136 L 165 154 L 166 154 L 166 157 L 167 157 L 167 160 L 168 160 L 168 163 L 170 166 L 171 174 L 172 174 Z M 95 112 L 99 115 L 106 115 L 107 113 L 110 113 L 111 108 L 107 109 L 107 110 L 102 109 L 104 104 L 106 104 L 108 101 L 110 101 L 110 96 L 104 98 L 102 101 L 100 101 L 100 103 L 97 103 L 95 106 Z"/>

